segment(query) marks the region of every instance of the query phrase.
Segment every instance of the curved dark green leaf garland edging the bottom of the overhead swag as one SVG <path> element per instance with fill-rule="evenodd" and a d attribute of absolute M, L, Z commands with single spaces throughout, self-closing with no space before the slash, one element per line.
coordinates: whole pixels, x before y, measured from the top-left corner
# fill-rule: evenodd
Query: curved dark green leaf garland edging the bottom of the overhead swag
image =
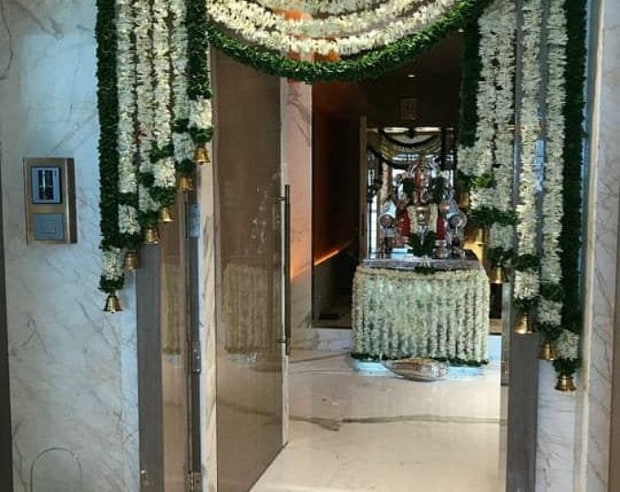
<path fill-rule="evenodd" d="M 196 0 L 192 0 L 196 1 Z M 253 46 L 228 36 L 218 26 L 207 31 L 213 46 L 228 56 L 262 72 L 305 82 L 352 81 L 377 78 L 402 67 L 414 56 L 429 50 L 451 31 L 466 26 L 491 4 L 491 0 L 462 0 L 446 15 L 422 32 L 406 36 L 395 43 L 337 62 L 294 60 L 262 46 Z M 189 9 L 188 9 L 189 10 Z"/>

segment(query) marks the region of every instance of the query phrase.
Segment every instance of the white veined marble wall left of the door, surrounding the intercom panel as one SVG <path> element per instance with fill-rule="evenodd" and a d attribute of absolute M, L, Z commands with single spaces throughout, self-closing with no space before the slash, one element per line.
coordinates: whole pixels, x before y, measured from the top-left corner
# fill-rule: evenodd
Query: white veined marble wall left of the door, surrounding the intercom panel
<path fill-rule="evenodd" d="M 95 2 L 0 0 L 0 141 L 15 490 L 139 489 L 132 280 L 97 290 Z M 73 157 L 78 244 L 26 245 L 22 158 Z M 54 450 L 54 448 L 58 448 Z M 44 453 L 46 450 L 50 450 Z M 36 461 L 36 456 L 44 453 Z"/>

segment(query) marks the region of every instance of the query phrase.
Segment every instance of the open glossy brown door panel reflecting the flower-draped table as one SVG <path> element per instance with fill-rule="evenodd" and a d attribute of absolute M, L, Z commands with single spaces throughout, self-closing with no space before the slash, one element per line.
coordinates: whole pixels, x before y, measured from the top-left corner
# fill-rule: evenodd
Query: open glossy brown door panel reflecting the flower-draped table
<path fill-rule="evenodd" d="M 282 448 L 280 81 L 214 56 L 219 492 Z"/>

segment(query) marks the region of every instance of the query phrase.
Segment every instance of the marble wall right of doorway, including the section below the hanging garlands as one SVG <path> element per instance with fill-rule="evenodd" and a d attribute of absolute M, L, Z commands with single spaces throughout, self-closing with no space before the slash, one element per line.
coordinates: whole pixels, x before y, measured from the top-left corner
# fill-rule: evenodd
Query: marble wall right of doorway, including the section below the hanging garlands
<path fill-rule="evenodd" d="M 615 0 L 592 6 L 584 365 L 577 394 L 566 395 L 553 390 L 553 371 L 541 363 L 536 486 L 540 492 L 604 492 L 608 487 L 620 198 L 620 10 Z"/>

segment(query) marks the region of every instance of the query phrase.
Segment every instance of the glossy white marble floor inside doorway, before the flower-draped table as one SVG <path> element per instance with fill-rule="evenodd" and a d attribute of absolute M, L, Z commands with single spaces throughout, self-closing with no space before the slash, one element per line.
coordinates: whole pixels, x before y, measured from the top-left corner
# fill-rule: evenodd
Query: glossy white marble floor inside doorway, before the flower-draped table
<path fill-rule="evenodd" d="M 491 364 L 416 383 L 344 353 L 290 364 L 290 442 L 253 492 L 500 492 L 499 337 Z"/>

